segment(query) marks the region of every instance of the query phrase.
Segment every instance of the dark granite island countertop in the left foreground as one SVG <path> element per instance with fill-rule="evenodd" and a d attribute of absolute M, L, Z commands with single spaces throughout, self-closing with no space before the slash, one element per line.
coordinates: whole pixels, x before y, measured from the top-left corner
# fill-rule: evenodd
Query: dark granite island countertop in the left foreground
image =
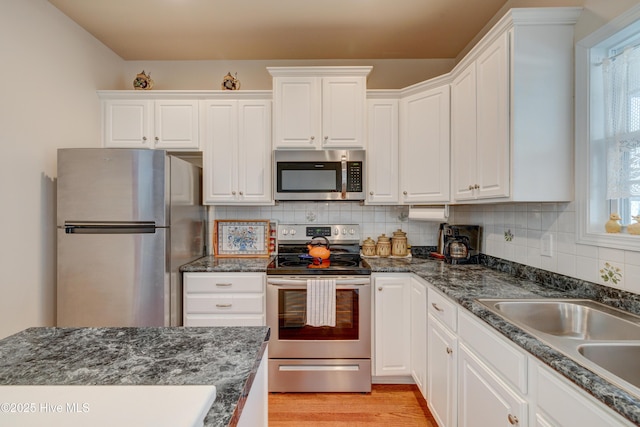
<path fill-rule="evenodd" d="M 267 327 L 30 328 L 0 340 L 0 385 L 215 385 L 205 426 L 235 425 Z"/>

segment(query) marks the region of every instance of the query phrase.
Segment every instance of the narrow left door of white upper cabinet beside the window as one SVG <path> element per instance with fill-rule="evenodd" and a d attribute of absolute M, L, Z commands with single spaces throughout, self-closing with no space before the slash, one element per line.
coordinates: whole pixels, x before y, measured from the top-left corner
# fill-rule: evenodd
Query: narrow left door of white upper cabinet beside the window
<path fill-rule="evenodd" d="M 471 63 L 451 83 L 451 167 L 453 198 L 475 198 L 476 64 Z"/>

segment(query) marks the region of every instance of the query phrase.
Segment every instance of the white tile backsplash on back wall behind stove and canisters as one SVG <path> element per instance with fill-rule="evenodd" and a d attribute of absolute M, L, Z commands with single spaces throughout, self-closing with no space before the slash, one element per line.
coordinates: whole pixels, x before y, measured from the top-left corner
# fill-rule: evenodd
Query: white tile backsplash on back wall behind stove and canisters
<path fill-rule="evenodd" d="M 438 223 L 407 219 L 408 206 L 363 206 L 357 202 L 281 202 L 276 206 L 211 206 L 209 230 L 216 219 L 270 219 L 280 223 L 360 224 L 362 237 L 377 239 L 402 229 L 414 246 L 435 245 Z M 211 241 L 211 239 L 209 240 Z"/>

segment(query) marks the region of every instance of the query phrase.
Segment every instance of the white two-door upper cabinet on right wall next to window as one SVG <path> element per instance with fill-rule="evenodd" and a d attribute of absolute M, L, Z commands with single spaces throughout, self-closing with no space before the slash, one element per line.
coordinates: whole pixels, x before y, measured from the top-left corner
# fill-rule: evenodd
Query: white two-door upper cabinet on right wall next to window
<path fill-rule="evenodd" d="M 573 25 L 510 10 L 452 72 L 452 199 L 573 199 Z"/>

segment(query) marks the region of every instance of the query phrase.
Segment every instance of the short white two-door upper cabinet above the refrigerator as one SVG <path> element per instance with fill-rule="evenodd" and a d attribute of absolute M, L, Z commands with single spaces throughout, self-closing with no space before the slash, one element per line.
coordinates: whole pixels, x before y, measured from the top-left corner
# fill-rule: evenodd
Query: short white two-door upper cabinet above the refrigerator
<path fill-rule="evenodd" d="M 196 151 L 200 148 L 198 100 L 150 99 L 102 93 L 103 146 Z"/>

